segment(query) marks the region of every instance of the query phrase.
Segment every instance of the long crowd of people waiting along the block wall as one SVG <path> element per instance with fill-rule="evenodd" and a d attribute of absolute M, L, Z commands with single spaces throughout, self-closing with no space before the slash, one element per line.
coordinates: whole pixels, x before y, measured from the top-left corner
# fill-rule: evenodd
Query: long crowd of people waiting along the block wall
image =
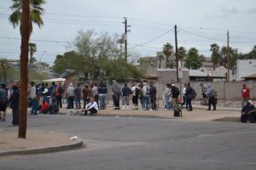
<path fill-rule="evenodd" d="M 157 88 L 154 82 L 141 82 L 140 84 L 132 83 L 131 88 L 125 83 L 124 87 L 120 87 L 115 80 L 110 82 L 111 94 L 113 99 L 114 110 L 129 110 L 130 100 L 132 102 L 132 110 L 153 110 L 157 99 Z M 218 104 L 218 92 L 212 88 L 211 83 L 205 85 L 199 83 L 201 88 L 202 101 L 201 105 L 207 105 L 207 111 L 216 111 Z M 98 110 L 105 110 L 107 107 L 108 86 L 107 82 L 102 80 L 96 84 L 85 84 L 81 88 L 81 84 L 69 83 L 67 88 L 61 82 L 48 83 L 35 82 L 30 83 L 28 91 L 28 105 L 31 106 L 31 115 L 38 113 L 57 114 L 62 107 L 64 99 L 67 99 L 67 109 L 82 110 L 86 116 L 96 114 Z M 175 84 L 166 83 L 163 92 L 163 100 L 166 111 L 175 111 L 177 106 L 186 108 L 187 111 L 193 111 L 192 100 L 195 99 L 195 89 L 191 87 L 190 82 L 184 84 L 180 90 Z M 63 99 L 64 98 L 64 99 Z M 81 104 L 81 100 L 83 104 Z M 122 107 L 120 107 L 120 100 Z M 245 105 L 246 104 L 246 105 Z M 19 124 L 19 105 L 20 105 L 20 87 L 19 84 L 7 88 L 4 83 L 0 84 L 0 120 L 5 121 L 7 107 L 12 109 L 13 125 Z M 242 115 L 255 110 L 250 100 L 250 89 L 243 84 L 241 89 L 241 106 Z M 3 114 L 2 114 L 3 113 Z M 256 120 L 256 117 L 255 117 Z"/>

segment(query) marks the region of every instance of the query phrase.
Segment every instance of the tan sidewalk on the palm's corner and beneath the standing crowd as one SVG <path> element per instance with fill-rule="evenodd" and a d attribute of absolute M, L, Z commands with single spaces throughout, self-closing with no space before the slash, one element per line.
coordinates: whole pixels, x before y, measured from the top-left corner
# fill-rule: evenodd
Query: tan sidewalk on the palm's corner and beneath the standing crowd
<path fill-rule="evenodd" d="M 96 116 L 164 118 L 195 122 L 207 122 L 212 120 L 228 122 L 232 120 L 232 122 L 239 122 L 239 117 L 241 116 L 240 108 L 217 107 L 217 111 L 207 111 L 207 106 L 193 105 L 193 107 L 193 111 L 183 109 L 182 117 L 174 117 L 173 111 L 166 111 L 163 107 L 160 107 L 158 111 L 143 111 L 132 110 L 133 106 L 130 106 L 128 111 L 122 111 L 113 110 L 113 107 L 108 105 L 106 110 L 98 111 Z M 61 108 L 60 115 L 67 115 L 68 111 L 67 109 Z M 83 112 L 79 113 L 83 114 Z M 10 110 L 7 111 L 7 114 L 10 114 Z M 11 127 L 10 125 L 3 127 L 3 125 L 1 125 L 0 156 L 70 150 L 82 147 L 83 145 L 83 141 L 70 140 L 70 136 L 61 133 L 27 131 L 26 139 L 18 139 L 17 135 L 18 127 Z"/>

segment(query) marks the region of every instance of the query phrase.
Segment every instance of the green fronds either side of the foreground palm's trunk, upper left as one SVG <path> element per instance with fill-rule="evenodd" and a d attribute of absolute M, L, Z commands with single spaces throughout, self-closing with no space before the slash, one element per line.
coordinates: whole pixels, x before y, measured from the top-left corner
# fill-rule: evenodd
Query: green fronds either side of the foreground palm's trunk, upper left
<path fill-rule="evenodd" d="M 35 23 L 39 26 L 44 25 L 44 21 L 41 18 L 41 15 L 44 12 L 44 8 L 41 6 L 45 3 L 44 0 L 30 0 L 30 35 L 32 34 L 32 23 Z M 22 12 L 22 0 L 13 0 L 13 5 L 10 7 L 14 10 L 13 14 L 9 16 L 9 22 L 13 24 L 14 28 L 20 25 L 21 22 L 21 12 Z"/>

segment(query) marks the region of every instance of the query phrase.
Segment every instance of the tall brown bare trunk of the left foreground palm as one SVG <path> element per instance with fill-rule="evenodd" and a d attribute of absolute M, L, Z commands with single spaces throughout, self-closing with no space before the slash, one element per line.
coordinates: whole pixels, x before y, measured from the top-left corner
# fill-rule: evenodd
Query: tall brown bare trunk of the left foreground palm
<path fill-rule="evenodd" d="M 29 0 L 22 0 L 22 13 L 20 23 L 21 47 L 20 47 L 20 111 L 19 111 L 19 134 L 18 138 L 26 139 L 27 121 L 27 61 L 28 42 L 30 36 L 30 12 Z"/>

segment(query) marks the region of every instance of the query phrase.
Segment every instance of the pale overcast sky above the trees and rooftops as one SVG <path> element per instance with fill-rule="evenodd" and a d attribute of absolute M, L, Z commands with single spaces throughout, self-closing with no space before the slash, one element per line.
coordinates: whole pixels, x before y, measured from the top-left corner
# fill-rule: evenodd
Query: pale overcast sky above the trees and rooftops
<path fill-rule="evenodd" d="M 0 58 L 19 59 L 20 30 L 9 23 L 11 0 L 0 3 Z M 33 26 L 31 42 L 37 44 L 38 61 L 53 65 L 57 54 L 73 50 L 70 46 L 78 31 L 94 30 L 121 36 L 129 32 L 128 50 L 141 56 L 155 56 L 166 42 L 197 48 L 211 56 L 210 45 L 227 44 L 247 53 L 256 45 L 255 0 L 46 0 L 44 26 Z"/>

